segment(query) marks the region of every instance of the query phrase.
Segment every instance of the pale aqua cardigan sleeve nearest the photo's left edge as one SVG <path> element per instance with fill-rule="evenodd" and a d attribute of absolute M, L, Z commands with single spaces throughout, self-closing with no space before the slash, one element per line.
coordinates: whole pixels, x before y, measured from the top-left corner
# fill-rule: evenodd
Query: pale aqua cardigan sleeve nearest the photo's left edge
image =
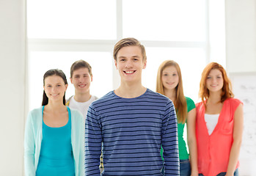
<path fill-rule="evenodd" d="M 25 166 L 25 175 L 34 176 L 34 130 L 33 130 L 33 121 L 32 121 L 32 112 L 29 112 L 29 115 L 26 120 L 25 134 L 24 134 L 24 166 Z"/>

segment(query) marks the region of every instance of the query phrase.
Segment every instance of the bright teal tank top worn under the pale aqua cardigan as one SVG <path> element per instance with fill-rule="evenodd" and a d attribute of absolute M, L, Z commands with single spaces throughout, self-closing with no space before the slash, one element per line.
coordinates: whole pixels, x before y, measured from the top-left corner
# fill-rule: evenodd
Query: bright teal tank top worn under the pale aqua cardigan
<path fill-rule="evenodd" d="M 75 175 L 71 145 L 71 116 L 68 107 L 67 111 L 68 122 L 62 127 L 53 128 L 43 122 L 43 139 L 37 176 Z"/>

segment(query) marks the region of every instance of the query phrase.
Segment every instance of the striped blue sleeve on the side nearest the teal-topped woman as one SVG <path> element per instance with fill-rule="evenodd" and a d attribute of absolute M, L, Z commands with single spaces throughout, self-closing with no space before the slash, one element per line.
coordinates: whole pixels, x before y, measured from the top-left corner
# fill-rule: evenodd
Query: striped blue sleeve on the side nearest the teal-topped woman
<path fill-rule="evenodd" d="M 89 106 L 87 118 L 85 120 L 85 157 L 84 169 L 85 175 L 100 175 L 100 154 L 101 154 L 101 128 L 99 116 L 95 111 L 93 104 Z"/>

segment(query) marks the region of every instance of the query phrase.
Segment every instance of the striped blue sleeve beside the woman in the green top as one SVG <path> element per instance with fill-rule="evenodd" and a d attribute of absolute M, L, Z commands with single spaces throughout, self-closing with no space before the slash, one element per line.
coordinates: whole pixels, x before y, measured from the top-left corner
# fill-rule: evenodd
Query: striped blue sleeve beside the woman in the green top
<path fill-rule="evenodd" d="M 177 117 L 171 101 L 167 103 L 161 134 L 164 149 L 164 175 L 180 175 Z"/>

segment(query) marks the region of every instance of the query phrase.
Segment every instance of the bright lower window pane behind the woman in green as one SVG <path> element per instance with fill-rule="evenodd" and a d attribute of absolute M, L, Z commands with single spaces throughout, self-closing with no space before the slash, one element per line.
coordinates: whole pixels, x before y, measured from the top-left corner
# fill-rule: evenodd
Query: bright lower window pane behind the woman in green
<path fill-rule="evenodd" d="M 201 48 L 146 48 L 146 51 L 147 67 L 142 74 L 144 86 L 156 91 L 159 65 L 165 60 L 174 60 L 180 65 L 185 96 L 198 100 L 201 73 L 205 67 L 205 51 Z"/>

